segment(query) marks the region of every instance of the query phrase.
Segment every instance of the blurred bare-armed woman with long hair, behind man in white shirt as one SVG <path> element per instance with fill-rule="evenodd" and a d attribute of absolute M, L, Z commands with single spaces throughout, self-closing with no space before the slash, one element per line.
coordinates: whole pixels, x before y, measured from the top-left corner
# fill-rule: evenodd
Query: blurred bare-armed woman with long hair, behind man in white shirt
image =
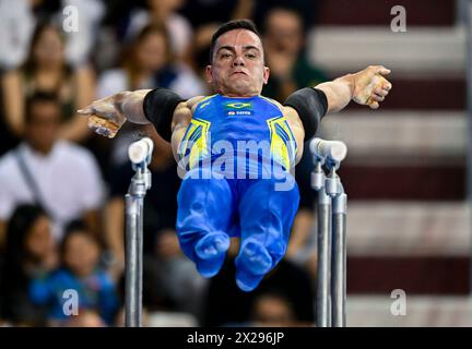
<path fill-rule="evenodd" d="M 51 24 L 39 24 L 33 35 L 26 62 L 2 76 L 2 93 L 7 123 L 22 135 L 25 129 L 24 100 L 35 92 L 58 95 L 62 108 L 59 136 L 83 141 L 90 136 L 86 120 L 76 115 L 80 106 L 94 97 L 94 77 L 87 68 L 73 69 L 66 62 L 64 39 Z"/>

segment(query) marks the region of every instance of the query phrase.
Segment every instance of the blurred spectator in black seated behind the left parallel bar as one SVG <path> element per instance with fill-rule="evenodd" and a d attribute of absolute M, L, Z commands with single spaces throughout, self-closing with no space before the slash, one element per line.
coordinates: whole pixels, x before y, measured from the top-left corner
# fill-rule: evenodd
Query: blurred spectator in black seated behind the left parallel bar
<path fill-rule="evenodd" d="M 168 143 L 155 137 L 152 163 L 152 186 L 144 198 L 143 250 L 144 304 L 150 310 L 200 311 L 205 280 L 192 262 L 180 251 L 175 232 L 177 192 L 180 180 Z M 106 206 L 108 245 L 123 267 L 125 201 L 133 176 L 129 164 L 114 170 L 110 200 Z"/>

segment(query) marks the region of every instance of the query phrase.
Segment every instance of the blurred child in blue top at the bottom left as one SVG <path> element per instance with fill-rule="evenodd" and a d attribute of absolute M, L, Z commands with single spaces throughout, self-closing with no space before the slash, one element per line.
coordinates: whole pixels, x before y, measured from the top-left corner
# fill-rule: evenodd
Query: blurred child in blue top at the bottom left
<path fill-rule="evenodd" d="M 85 225 L 78 221 L 69 225 L 61 243 L 60 268 L 36 278 L 30 288 L 35 303 L 49 304 L 50 325 L 73 324 L 69 323 L 72 315 L 63 311 L 68 301 L 62 297 L 66 290 L 76 291 L 79 315 L 85 312 L 90 320 L 83 324 L 113 324 L 119 308 L 118 293 L 109 276 L 98 268 L 101 253 L 101 244 Z"/>

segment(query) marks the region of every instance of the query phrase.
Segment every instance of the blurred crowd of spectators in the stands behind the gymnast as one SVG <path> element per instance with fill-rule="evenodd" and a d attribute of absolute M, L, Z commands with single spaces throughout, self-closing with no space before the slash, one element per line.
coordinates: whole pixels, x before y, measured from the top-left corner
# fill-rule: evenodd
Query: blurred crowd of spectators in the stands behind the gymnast
<path fill-rule="evenodd" d="M 252 19 L 271 69 L 262 94 L 283 100 L 328 80 L 307 59 L 311 0 L 0 0 L 0 325 L 122 326 L 128 145 L 155 143 L 144 205 L 148 325 L 315 325 L 311 159 L 296 168 L 302 202 L 286 257 L 253 292 L 234 281 L 237 241 L 202 278 L 175 233 L 180 184 L 152 127 L 114 140 L 76 113 L 119 91 L 212 94 L 204 81 L 214 29 Z M 71 9 L 75 9 L 71 11 Z M 76 16 L 74 16 L 76 15 Z M 72 25 L 73 24 L 73 25 Z M 68 312 L 74 290 L 78 311 Z"/>

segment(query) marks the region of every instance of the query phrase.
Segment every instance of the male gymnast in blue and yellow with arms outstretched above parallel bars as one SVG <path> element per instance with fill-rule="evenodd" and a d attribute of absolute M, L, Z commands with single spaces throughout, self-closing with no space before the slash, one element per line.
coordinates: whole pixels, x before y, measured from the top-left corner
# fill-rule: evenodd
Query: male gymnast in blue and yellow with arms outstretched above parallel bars
<path fill-rule="evenodd" d="M 239 237 L 236 284 L 251 291 L 285 254 L 299 202 L 291 170 L 304 141 L 327 113 L 352 99 L 377 109 L 392 87 L 384 77 L 390 71 L 370 65 L 298 89 L 280 104 L 261 96 L 270 69 L 251 21 L 223 24 L 210 53 L 205 75 L 215 95 L 184 100 L 166 88 L 120 92 L 79 112 L 108 137 L 126 120 L 155 127 L 186 170 L 176 222 L 184 253 L 203 277 L 212 277 L 223 265 L 229 238 Z M 287 182 L 293 185 L 282 185 Z"/>

